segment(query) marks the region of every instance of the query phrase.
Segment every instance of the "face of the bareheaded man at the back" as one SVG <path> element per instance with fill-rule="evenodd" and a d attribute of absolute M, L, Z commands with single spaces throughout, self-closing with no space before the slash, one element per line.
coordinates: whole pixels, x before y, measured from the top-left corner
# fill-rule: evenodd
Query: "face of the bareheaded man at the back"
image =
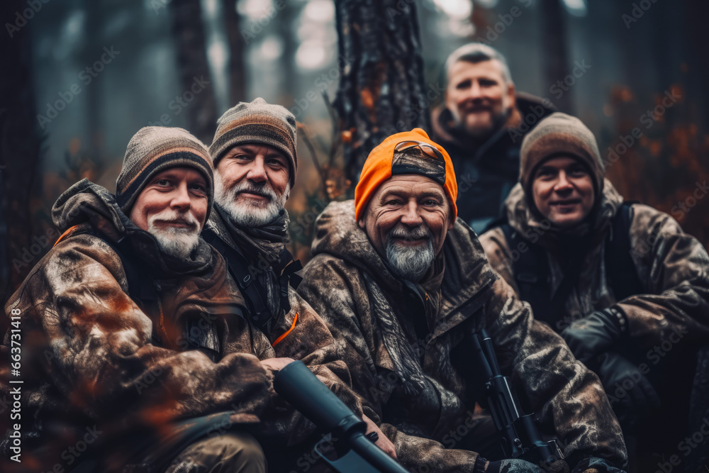
<path fill-rule="evenodd" d="M 481 139 L 501 128 L 515 104 L 515 86 L 500 62 L 455 62 L 448 71 L 445 104 L 460 128 Z"/>

